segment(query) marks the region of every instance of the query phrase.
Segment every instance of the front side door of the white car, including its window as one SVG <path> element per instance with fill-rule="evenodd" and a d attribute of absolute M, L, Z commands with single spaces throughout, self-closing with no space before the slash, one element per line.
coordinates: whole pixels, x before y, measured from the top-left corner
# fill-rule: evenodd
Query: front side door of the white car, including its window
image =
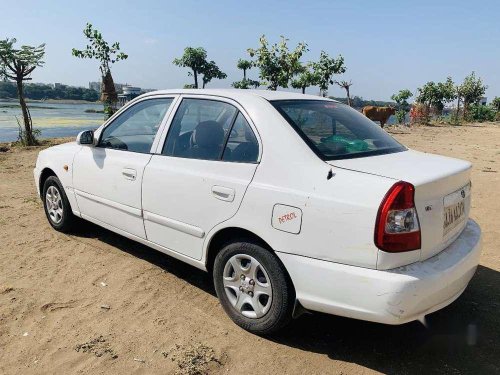
<path fill-rule="evenodd" d="M 73 161 L 73 185 L 83 218 L 146 238 L 141 207 L 144 168 L 173 97 L 141 100 L 83 146 Z"/>

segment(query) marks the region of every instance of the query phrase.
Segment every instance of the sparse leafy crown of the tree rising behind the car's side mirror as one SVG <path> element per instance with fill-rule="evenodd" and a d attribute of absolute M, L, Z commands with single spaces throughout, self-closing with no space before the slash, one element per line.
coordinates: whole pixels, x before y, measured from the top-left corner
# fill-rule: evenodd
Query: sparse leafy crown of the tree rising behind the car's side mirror
<path fill-rule="evenodd" d="M 96 59 L 100 62 L 99 69 L 104 77 L 110 71 L 110 65 L 120 60 L 126 60 L 128 55 L 120 52 L 120 43 L 114 42 L 111 46 L 104 40 L 102 34 L 94 29 L 92 24 L 87 23 L 83 29 L 83 35 L 88 39 L 84 50 L 73 48 L 71 54 L 81 59 Z"/>

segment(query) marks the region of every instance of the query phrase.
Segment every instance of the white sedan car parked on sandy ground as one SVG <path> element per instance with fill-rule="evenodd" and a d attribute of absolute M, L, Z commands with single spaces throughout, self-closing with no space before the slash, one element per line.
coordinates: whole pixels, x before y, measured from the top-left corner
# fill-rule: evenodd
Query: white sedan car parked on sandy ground
<path fill-rule="evenodd" d="M 333 100 L 157 91 L 41 151 L 49 223 L 82 218 L 212 273 L 257 334 L 304 310 L 421 320 L 479 262 L 471 164 L 412 151 Z"/>

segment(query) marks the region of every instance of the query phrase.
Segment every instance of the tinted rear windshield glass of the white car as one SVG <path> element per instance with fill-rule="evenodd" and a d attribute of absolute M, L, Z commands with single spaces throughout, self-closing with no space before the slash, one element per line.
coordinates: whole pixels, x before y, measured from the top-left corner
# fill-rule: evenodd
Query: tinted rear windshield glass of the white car
<path fill-rule="evenodd" d="M 323 160 L 406 150 L 379 125 L 345 104 L 327 100 L 275 100 L 271 104 Z"/>

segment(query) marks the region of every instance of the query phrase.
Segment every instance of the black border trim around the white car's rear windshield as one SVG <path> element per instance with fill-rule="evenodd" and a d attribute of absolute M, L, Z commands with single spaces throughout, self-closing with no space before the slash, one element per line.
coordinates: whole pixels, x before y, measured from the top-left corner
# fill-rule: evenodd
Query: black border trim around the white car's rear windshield
<path fill-rule="evenodd" d="M 377 155 L 388 155 L 388 154 L 395 154 L 395 153 L 398 153 L 398 152 L 404 152 L 404 151 L 408 151 L 408 148 L 406 148 L 405 146 L 403 146 L 401 143 L 399 143 L 396 139 L 394 139 L 394 137 L 390 136 L 392 139 L 394 139 L 394 141 L 396 141 L 400 146 L 401 146 L 401 149 L 397 149 L 397 150 L 392 150 L 392 149 L 389 149 L 389 150 L 374 150 L 374 151 L 368 151 L 368 152 L 364 152 L 364 153 L 352 153 L 352 154 L 346 154 L 346 155 L 339 155 L 339 156 L 335 156 L 335 157 L 327 157 L 325 155 L 323 155 L 319 150 L 318 148 L 316 147 L 316 145 L 314 144 L 313 141 L 311 141 L 309 139 L 309 137 L 295 124 L 295 122 L 290 118 L 290 116 L 287 115 L 287 113 L 277 107 L 275 105 L 275 103 L 279 103 L 279 102 L 290 102 L 290 101 L 311 101 L 311 102 L 315 102 L 315 101 L 323 101 L 323 100 L 314 100 L 314 99 L 277 99 L 277 100 L 269 100 L 269 103 L 273 106 L 273 108 L 281 115 L 283 116 L 283 119 L 292 127 L 293 130 L 295 130 L 295 132 L 297 133 L 297 135 L 307 144 L 307 146 L 311 149 L 312 152 L 314 152 L 314 154 L 320 158 L 321 160 L 327 162 L 327 161 L 333 161 L 333 160 L 346 160 L 346 159 L 358 159 L 358 158 L 364 158 L 364 157 L 370 157 L 370 156 L 377 156 Z M 324 100 L 324 101 L 328 101 L 328 100 Z M 339 105 L 346 105 L 346 104 L 343 104 L 343 103 L 340 103 L 340 102 L 337 102 L 337 101 L 334 101 L 332 100 L 331 101 L 332 103 L 336 103 L 336 104 L 339 104 Z"/>

